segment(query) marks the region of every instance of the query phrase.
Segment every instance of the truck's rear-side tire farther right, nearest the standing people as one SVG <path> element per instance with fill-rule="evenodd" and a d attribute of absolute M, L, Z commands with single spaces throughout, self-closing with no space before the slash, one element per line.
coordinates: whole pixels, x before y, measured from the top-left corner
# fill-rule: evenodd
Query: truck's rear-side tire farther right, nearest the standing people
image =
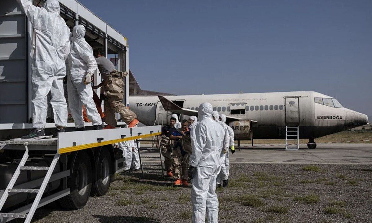
<path fill-rule="evenodd" d="M 103 147 L 97 159 L 93 189 L 96 195 L 103 196 L 109 191 L 111 184 L 112 158 L 110 152 Z"/>

